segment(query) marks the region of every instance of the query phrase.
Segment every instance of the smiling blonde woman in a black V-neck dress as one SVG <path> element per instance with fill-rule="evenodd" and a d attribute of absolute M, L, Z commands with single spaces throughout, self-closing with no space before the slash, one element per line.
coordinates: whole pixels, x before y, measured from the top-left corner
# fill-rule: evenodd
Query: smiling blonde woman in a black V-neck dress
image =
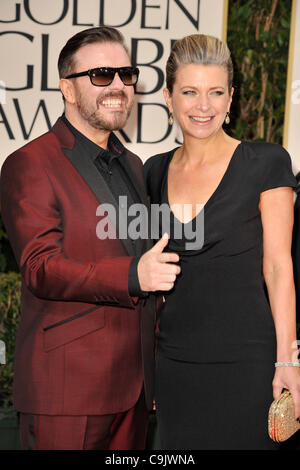
<path fill-rule="evenodd" d="M 276 449 L 268 408 L 283 388 L 300 416 L 290 256 L 296 181 L 281 146 L 224 132 L 232 78 L 223 42 L 177 41 L 164 95 L 183 145 L 145 164 L 151 202 L 171 208 L 168 250 L 181 266 L 159 322 L 163 449 Z M 203 228 L 203 243 L 188 245 L 185 234 Z"/>

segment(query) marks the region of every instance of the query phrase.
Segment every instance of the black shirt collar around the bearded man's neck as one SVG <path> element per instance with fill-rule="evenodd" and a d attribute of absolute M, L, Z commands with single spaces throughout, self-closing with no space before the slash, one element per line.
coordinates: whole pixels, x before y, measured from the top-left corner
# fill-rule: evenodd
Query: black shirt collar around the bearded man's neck
<path fill-rule="evenodd" d="M 65 114 L 61 116 L 62 121 L 68 126 L 70 131 L 75 135 L 76 139 L 80 140 L 90 156 L 90 158 L 95 161 L 98 156 L 103 158 L 107 162 L 111 162 L 114 158 L 118 158 L 125 151 L 125 147 L 117 138 L 117 136 L 112 132 L 108 138 L 107 148 L 108 150 L 100 147 L 100 145 L 95 144 L 92 140 L 88 139 L 84 134 L 82 134 L 76 127 L 74 127 L 70 121 L 66 118 Z"/>

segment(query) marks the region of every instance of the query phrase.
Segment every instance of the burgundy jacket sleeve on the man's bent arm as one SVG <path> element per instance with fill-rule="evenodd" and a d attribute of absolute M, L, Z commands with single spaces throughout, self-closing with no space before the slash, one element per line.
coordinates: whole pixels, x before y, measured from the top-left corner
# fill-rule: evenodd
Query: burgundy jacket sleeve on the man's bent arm
<path fill-rule="evenodd" d="M 28 152 L 19 150 L 3 164 L 0 196 L 16 260 L 35 296 L 134 308 L 136 299 L 128 292 L 132 257 L 93 263 L 65 255 L 59 201 L 46 170 Z"/>

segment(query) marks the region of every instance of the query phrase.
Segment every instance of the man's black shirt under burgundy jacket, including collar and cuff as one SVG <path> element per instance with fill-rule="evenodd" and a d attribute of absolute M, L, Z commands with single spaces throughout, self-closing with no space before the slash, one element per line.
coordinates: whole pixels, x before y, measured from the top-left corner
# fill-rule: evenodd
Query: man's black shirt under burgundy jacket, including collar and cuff
<path fill-rule="evenodd" d="M 120 165 L 119 159 L 125 152 L 125 147 L 115 134 L 110 134 L 108 139 L 108 150 L 105 150 L 72 126 L 64 114 L 62 115 L 62 120 L 75 135 L 76 139 L 81 141 L 85 149 L 85 158 L 90 158 L 93 161 L 95 168 L 101 173 L 101 176 L 110 187 L 116 201 L 119 201 L 120 196 L 126 196 L 129 207 L 136 202 L 140 202 L 132 181 L 123 170 L 122 165 Z M 129 216 L 128 220 L 130 222 Z M 133 258 L 129 268 L 128 291 L 133 297 L 144 297 L 147 293 L 141 290 L 137 274 L 137 265 L 141 256 L 142 240 L 131 240 L 131 242 L 136 256 Z"/>

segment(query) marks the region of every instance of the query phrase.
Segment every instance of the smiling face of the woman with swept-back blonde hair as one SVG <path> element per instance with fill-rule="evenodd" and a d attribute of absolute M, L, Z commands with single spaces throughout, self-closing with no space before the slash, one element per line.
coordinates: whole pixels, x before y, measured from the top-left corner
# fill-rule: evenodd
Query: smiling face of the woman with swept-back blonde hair
<path fill-rule="evenodd" d="M 206 139 L 222 128 L 230 109 L 228 74 L 219 65 L 187 64 L 177 69 L 172 95 L 164 89 L 169 111 L 174 114 L 183 136 Z"/>

